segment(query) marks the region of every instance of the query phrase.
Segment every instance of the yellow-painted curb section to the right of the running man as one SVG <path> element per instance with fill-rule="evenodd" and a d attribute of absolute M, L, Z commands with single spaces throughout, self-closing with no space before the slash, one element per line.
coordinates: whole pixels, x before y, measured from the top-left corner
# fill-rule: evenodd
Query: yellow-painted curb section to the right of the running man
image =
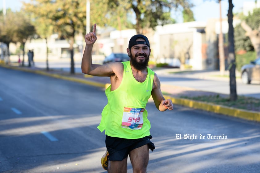
<path fill-rule="evenodd" d="M 220 113 L 232 117 L 238 117 L 246 120 L 260 122 L 260 112 L 230 108 L 223 105 L 214 105 L 211 103 L 206 103 L 202 101 L 193 101 L 193 100 L 183 99 L 183 98 L 175 98 L 169 96 L 165 96 L 165 98 L 171 99 L 172 102 L 177 105 L 183 105 L 190 108 L 201 109 L 201 110 Z"/>

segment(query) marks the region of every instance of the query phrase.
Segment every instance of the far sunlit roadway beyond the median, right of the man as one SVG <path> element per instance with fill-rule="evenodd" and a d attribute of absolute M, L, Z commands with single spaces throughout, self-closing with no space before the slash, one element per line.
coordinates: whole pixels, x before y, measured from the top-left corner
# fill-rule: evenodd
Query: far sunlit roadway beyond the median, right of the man
<path fill-rule="evenodd" d="M 218 72 L 200 72 L 199 74 L 159 74 L 162 84 L 193 88 L 201 91 L 230 94 L 229 78 L 211 77 Z M 260 99 L 260 84 L 243 84 L 240 79 L 236 81 L 237 94 Z"/>

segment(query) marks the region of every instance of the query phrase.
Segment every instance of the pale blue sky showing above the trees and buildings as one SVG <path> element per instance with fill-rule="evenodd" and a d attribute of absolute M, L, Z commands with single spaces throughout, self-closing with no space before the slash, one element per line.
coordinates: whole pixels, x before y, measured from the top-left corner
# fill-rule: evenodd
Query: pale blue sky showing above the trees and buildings
<path fill-rule="evenodd" d="M 3 1 L 0 0 L 0 9 L 3 8 Z M 22 6 L 22 1 L 30 2 L 30 0 L 5 0 L 6 8 L 11 8 L 12 10 L 19 10 Z M 204 0 L 205 1 L 205 0 Z M 216 3 L 216 0 L 191 0 L 195 4 L 195 7 L 192 8 L 194 17 L 197 21 L 207 21 L 209 18 L 219 18 L 219 4 Z M 242 7 L 244 2 L 254 2 L 254 0 L 233 0 L 233 12 L 242 12 Z M 228 12 L 228 0 L 222 0 L 222 17 L 226 18 Z M 180 22 L 182 19 L 181 16 L 177 16 L 177 20 Z"/>

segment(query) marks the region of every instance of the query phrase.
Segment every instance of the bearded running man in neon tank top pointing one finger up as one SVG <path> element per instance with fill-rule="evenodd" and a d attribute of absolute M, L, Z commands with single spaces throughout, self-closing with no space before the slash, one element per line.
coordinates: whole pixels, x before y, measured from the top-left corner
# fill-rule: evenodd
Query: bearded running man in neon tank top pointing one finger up
<path fill-rule="evenodd" d="M 150 122 L 145 109 L 152 95 L 160 111 L 173 110 L 170 99 L 161 93 L 158 76 L 148 68 L 150 43 L 144 35 L 134 35 L 128 44 L 130 61 L 92 64 L 92 47 L 97 40 L 96 24 L 93 32 L 85 35 L 86 47 L 82 58 L 82 72 L 93 76 L 110 77 L 105 90 L 108 103 L 102 111 L 98 129 L 105 130 L 107 151 L 101 159 L 108 173 L 127 173 L 127 158 L 134 173 L 146 173 L 149 161 Z"/>

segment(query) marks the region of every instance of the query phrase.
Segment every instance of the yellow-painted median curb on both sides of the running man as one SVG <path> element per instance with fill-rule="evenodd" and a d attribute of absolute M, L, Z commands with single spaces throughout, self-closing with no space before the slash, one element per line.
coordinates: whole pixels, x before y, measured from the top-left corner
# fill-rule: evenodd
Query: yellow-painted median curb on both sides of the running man
<path fill-rule="evenodd" d="M 109 84 L 104 84 L 100 82 L 93 82 L 89 81 L 86 79 L 79 79 L 75 77 L 68 77 L 68 76 L 62 76 L 59 74 L 50 74 L 48 72 L 40 71 L 40 70 L 33 70 L 33 69 L 26 69 L 26 68 L 20 68 L 20 67 L 14 67 L 14 66 L 8 66 L 8 65 L 0 65 L 1 67 L 4 68 L 9 68 L 9 69 L 14 69 L 14 70 L 20 70 L 24 72 L 32 72 L 40 75 L 45 75 L 45 76 L 50 76 L 58 79 L 63 79 L 63 80 L 69 80 L 73 82 L 79 82 L 91 86 L 96 86 L 96 87 L 101 87 L 106 89 Z M 232 117 L 238 117 L 242 118 L 245 120 L 250 120 L 250 121 L 255 121 L 255 122 L 260 122 L 260 113 L 256 111 L 249 111 L 249 110 L 244 110 L 244 109 L 237 109 L 237 108 L 230 108 L 227 106 L 223 105 L 215 105 L 212 103 L 206 103 L 202 101 L 194 101 L 194 100 L 189 100 L 189 99 L 184 99 L 184 98 L 178 98 L 178 97 L 170 97 L 168 95 L 164 95 L 166 99 L 171 99 L 174 104 L 177 105 L 183 105 L 186 107 L 194 108 L 194 109 L 201 109 L 201 110 L 206 110 L 209 112 L 214 112 L 214 113 L 220 113 L 223 115 L 228 115 Z"/>

